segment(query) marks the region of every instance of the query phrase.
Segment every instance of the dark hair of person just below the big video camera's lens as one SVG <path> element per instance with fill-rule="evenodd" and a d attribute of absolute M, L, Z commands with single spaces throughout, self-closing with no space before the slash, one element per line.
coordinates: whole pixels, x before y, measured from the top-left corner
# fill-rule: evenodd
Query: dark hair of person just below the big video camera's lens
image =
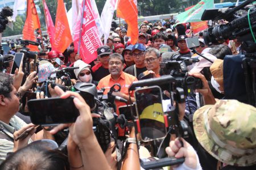
<path fill-rule="evenodd" d="M 211 48 L 209 53 L 218 59 L 224 59 L 226 55 L 232 55 L 232 50 L 227 45 L 214 45 Z"/>

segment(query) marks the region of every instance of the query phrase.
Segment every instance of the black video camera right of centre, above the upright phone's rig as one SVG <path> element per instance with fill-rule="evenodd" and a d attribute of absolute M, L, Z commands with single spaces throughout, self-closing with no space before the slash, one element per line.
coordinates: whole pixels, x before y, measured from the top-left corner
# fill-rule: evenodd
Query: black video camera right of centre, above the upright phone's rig
<path fill-rule="evenodd" d="M 187 75 L 187 67 L 193 62 L 199 62 L 199 59 L 181 57 L 179 54 L 163 58 L 160 63 L 160 75 L 172 75 L 176 80 L 175 86 L 183 88 L 186 96 L 191 96 L 194 90 L 203 87 L 199 78 Z"/>

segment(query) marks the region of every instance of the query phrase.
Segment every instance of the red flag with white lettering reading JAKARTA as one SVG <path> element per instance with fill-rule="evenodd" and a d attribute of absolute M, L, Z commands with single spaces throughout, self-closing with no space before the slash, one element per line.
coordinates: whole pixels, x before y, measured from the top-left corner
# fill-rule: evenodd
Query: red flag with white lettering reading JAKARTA
<path fill-rule="evenodd" d="M 82 12 L 82 5 L 79 12 L 79 17 L 77 18 L 77 24 L 75 27 L 75 35 L 74 35 L 74 45 L 75 49 L 78 49 L 79 46 L 79 35 L 80 35 L 80 27 L 81 20 L 82 23 L 82 33 L 81 33 L 81 45 L 80 45 L 80 57 L 82 61 L 85 63 L 92 62 L 95 58 L 97 58 L 97 48 L 102 45 L 98 28 L 93 16 L 92 5 L 90 0 L 85 1 L 85 10 Z M 83 15 L 81 15 L 83 14 Z M 82 16 L 82 19 L 81 19 Z"/>

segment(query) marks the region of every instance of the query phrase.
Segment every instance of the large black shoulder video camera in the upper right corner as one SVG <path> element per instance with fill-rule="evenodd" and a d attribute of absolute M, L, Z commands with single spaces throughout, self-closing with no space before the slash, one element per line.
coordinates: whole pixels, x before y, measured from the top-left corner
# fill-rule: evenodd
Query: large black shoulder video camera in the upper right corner
<path fill-rule="evenodd" d="M 246 8 L 253 0 L 247 0 L 241 5 L 226 10 L 205 10 L 201 20 L 225 19 L 229 23 L 208 28 L 203 32 L 205 44 L 221 44 L 225 40 L 238 39 L 243 42 L 242 48 L 247 53 L 256 49 L 254 31 L 256 30 L 256 8 Z M 238 10 L 242 10 L 242 15 Z"/>

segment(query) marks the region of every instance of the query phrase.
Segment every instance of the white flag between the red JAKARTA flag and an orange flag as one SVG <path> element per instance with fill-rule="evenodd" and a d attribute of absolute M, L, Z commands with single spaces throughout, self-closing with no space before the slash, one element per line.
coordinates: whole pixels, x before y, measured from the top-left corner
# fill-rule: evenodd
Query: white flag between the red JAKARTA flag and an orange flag
<path fill-rule="evenodd" d="M 104 27 L 104 44 L 106 44 L 114 15 L 117 0 L 107 0 L 101 12 L 101 22 Z"/>

